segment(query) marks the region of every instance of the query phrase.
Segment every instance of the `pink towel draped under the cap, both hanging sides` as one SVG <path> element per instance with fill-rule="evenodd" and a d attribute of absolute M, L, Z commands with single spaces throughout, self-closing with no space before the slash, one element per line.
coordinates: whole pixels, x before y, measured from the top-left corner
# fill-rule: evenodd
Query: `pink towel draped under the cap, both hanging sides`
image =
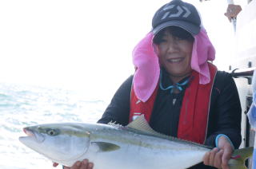
<path fill-rule="evenodd" d="M 134 92 L 139 100 L 146 102 L 158 85 L 160 66 L 158 56 L 154 52 L 153 33 L 147 33 L 133 51 Z M 207 61 L 214 61 L 215 49 L 211 44 L 206 30 L 194 36 L 194 45 L 191 57 L 191 68 L 199 73 L 199 83 L 206 85 L 210 82 L 210 71 Z"/>

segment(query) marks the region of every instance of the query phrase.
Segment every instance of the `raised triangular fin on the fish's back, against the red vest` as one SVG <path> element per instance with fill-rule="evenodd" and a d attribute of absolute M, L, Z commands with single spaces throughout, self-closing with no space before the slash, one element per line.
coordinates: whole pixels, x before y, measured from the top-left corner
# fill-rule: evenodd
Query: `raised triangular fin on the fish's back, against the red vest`
<path fill-rule="evenodd" d="M 135 120 L 130 122 L 130 124 L 128 124 L 126 127 L 132 128 L 141 132 L 146 132 L 153 136 L 165 136 L 159 132 L 154 131 L 154 129 L 150 127 L 150 124 L 147 123 L 144 115 L 138 116 Z"/>

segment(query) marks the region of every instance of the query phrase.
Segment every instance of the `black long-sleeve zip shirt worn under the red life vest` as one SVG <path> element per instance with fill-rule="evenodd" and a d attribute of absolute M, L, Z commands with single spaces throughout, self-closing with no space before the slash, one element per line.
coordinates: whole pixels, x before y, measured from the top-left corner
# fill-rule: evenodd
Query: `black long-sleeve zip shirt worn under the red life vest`
<path fill-rule="evenodd" d="M 102 119 L 98 120 L 98 123 L 107 124 L 110 121 L 115 121 L 122 125 L 129 123 L 132 79 L 133 76 L 129 77 L 120 88 L 118 88 L 118 91 L 106 108 Z M 163 76 L 162 84 L 165 86 L 170 85 L 171 81 L 168 79 L 168 77 Z M 177 136 L 178 119 L 185 88 L 186 86 L 184 86 L 182 92 L 178 94 L 170 93 L 170 90 L 158 88 L 158 94 L 150 117 L 151 128 L 169 136 Z M 242 140 L 241 114 L 242 109 L 238 90 L 233 78 L 229 73 L 218 71 L 210 97 L 206 145 L 215 147 L 216 136 L 218 136 L 218 134 L 224 134 L 230 138 L 234 147 L 238 148 Z M 198 121 L 198 123 L 200 122 Z M 206 167 L 201 163 L 193 168 L 213 167 Z"/>

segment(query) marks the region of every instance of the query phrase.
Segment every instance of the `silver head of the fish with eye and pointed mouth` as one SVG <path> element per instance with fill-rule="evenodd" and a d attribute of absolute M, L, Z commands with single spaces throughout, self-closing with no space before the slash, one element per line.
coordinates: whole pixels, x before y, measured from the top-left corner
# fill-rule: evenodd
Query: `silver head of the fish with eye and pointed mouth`
<path fill-rule="evenodd" d="M 90 146 L 90 132 L 79 124 L 42 124 L 23 131 L 23 144 L 61 164 L 75 162 Z"/>

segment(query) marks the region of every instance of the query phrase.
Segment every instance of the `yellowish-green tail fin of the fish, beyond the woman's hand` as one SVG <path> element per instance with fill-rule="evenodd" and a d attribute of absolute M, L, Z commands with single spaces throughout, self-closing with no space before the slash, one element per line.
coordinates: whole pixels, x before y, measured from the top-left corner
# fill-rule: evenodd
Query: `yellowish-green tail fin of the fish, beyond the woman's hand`
<path fill-rule="evenodd" d="M 254 147 L 246 147 L 234 150 L 232 157 L 230 159 L 229 165 L 230 169 L 246 169 L 245 161 L 246 159 L 250 158 L 253 154 Z"/>

